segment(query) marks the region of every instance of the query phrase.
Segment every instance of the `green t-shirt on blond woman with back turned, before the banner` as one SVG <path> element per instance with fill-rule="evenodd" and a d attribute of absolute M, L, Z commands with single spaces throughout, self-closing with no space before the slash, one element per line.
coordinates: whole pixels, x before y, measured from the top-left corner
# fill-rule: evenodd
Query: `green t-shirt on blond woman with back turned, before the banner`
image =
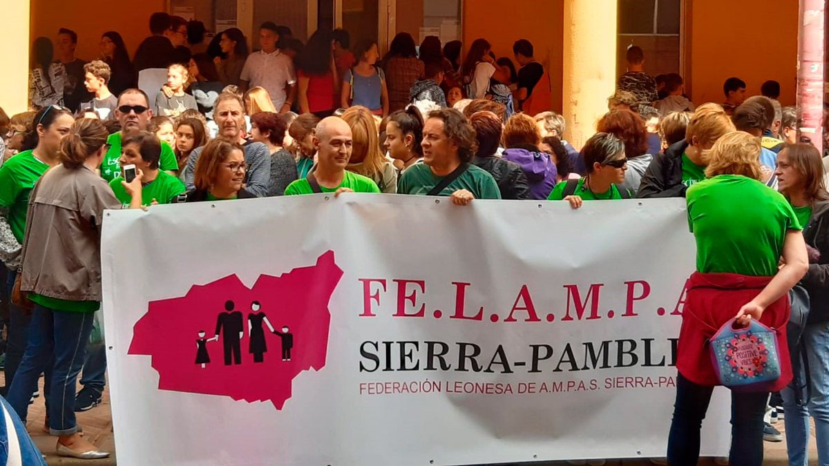
<path fill-rule="evenodd" d="M 770 277 L 786 232 L 802 229 L 782 194 L 749 177 L 703 180 L 688 188 L 686 201 L 696 269 L 703 273 Z"/>

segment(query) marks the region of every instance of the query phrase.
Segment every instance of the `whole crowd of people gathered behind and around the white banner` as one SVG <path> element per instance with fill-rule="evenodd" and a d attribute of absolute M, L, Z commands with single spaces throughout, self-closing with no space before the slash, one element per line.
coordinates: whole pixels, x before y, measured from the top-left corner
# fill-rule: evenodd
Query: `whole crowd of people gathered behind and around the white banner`
<path fill-rule="evenodd" d="M 483 38 L 462 56 L 460 41 L 427 36 L 416 46 L 403 32 L 381 57 L 376 41 L 351 46 L 342 29 L 303 44 L 265 22 L 254 52 L 239 29 L 206 43 L 201 22 L 166 13 L 153 14 L 150 32 L 132 59 L 118 32 L 104 33 L 101 56 L 89 63 L 75 57 L 75 32 L 58 32 L 57 60 L 52 41 L 39 37 L 32 111 L 8 118 L 0 110 L 0 269 L 13 302 L 4 395 L 25 421 L 46 374 L 46 429 L 58 436 L 58 454 L 106 455 L 75 422 L 75 411 L 100 403 L 105 383 L 104 346 L 87 346 L 101 301 L 104 209 L 382 192 L 574 209 L 686 197 L 697 243 L 689 306 L 696 312 L 701 302 L 695 280 L 765 280 L 748 303 L 683 318 L 668 461 L 696 464 L 716 385 L 710 359 L 690 343 L 710 337 L 699 321 L 719 328 L 736 316 L 786 328 L 788 304 L 780 303 L 796 285 L 811 303 L 796 331 L 789 323 L 789 342 L 808 364 L 794 365 L 799 382 L 778 384 L 770 409 L 768 392 L 734 392 L 730 461 L 761 464 L 763 440 L 782 439 L 770 422 L 783 413 L 792 464 L 806 464 L 810 415 L 820 461 L 829 461 L 829 194 L 822 154 L 797 139 L 797 111 L 779 104 L 776 82 L 746 98 L 745 82 L 730 78 L 722 103 L 696 105 L 680 75 L 648 75 L 632 46 L 608 113 L 577 148 L 564 139 L 565 118 L 550 111 L 547 71 L 526 39 L 511 58 L 495 56 Z M 142 89 L 142 71 L 153 69 L 166 70 L 166 82 Z M 739 286 L 724 284 L 722 293 Z"/>

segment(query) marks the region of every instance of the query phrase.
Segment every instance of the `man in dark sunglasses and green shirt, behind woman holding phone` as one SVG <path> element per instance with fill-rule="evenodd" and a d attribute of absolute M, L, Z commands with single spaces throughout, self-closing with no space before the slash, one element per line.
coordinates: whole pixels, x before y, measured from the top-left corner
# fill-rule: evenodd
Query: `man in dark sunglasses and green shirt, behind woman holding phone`
<path fill-rule="evenodd" d="M 111 182 L 121 176 L 121 142 L 124 137 L 138 131 L 146 131 L 149 120 L 153 118 L 153 110 L 149 109 L 147 95 L 143 90 L 128 89 L 119 95 L 118 106 L 115 108 L 115 118 L 121 123 L 121 130 L 112 133 L 107 138 L 109 150 L 101 163 L 101 177 Z M 178 170 L 176 155 L 169 144 L 161 143 L 161 162 L 159 168 L 171 175 Z"/>

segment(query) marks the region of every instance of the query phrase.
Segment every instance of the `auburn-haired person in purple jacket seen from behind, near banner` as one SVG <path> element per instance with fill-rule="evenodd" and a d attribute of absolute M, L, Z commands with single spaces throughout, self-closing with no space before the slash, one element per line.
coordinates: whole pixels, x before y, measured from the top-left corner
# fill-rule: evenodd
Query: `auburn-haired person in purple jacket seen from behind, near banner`
<path fill-rule="evenodd" d="M 532 199 L 546 199 L 555 187 L 555 163 L 541 152 L 541 133 L 536 121 L 526 114 L 512 115 L 504 127 L 503 143 L 507 150 L 502 157 L 521 165 L 530 184 Z"/>

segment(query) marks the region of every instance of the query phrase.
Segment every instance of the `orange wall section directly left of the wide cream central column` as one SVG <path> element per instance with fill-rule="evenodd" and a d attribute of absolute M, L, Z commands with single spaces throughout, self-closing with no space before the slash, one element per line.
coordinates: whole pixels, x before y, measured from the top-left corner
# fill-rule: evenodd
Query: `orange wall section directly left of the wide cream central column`
<path fill-rule="evenodd" d="M 527 39 L 536 61 L 550 73 L 551 109 L 561 111 L 564 0 L 470 0 L 464 3 L 463 47 L 478 37 L 492 44 L 495 56 L 512 56 L 512 44 Z M 517 63 L 516 63 L 517 66 Z"/>

